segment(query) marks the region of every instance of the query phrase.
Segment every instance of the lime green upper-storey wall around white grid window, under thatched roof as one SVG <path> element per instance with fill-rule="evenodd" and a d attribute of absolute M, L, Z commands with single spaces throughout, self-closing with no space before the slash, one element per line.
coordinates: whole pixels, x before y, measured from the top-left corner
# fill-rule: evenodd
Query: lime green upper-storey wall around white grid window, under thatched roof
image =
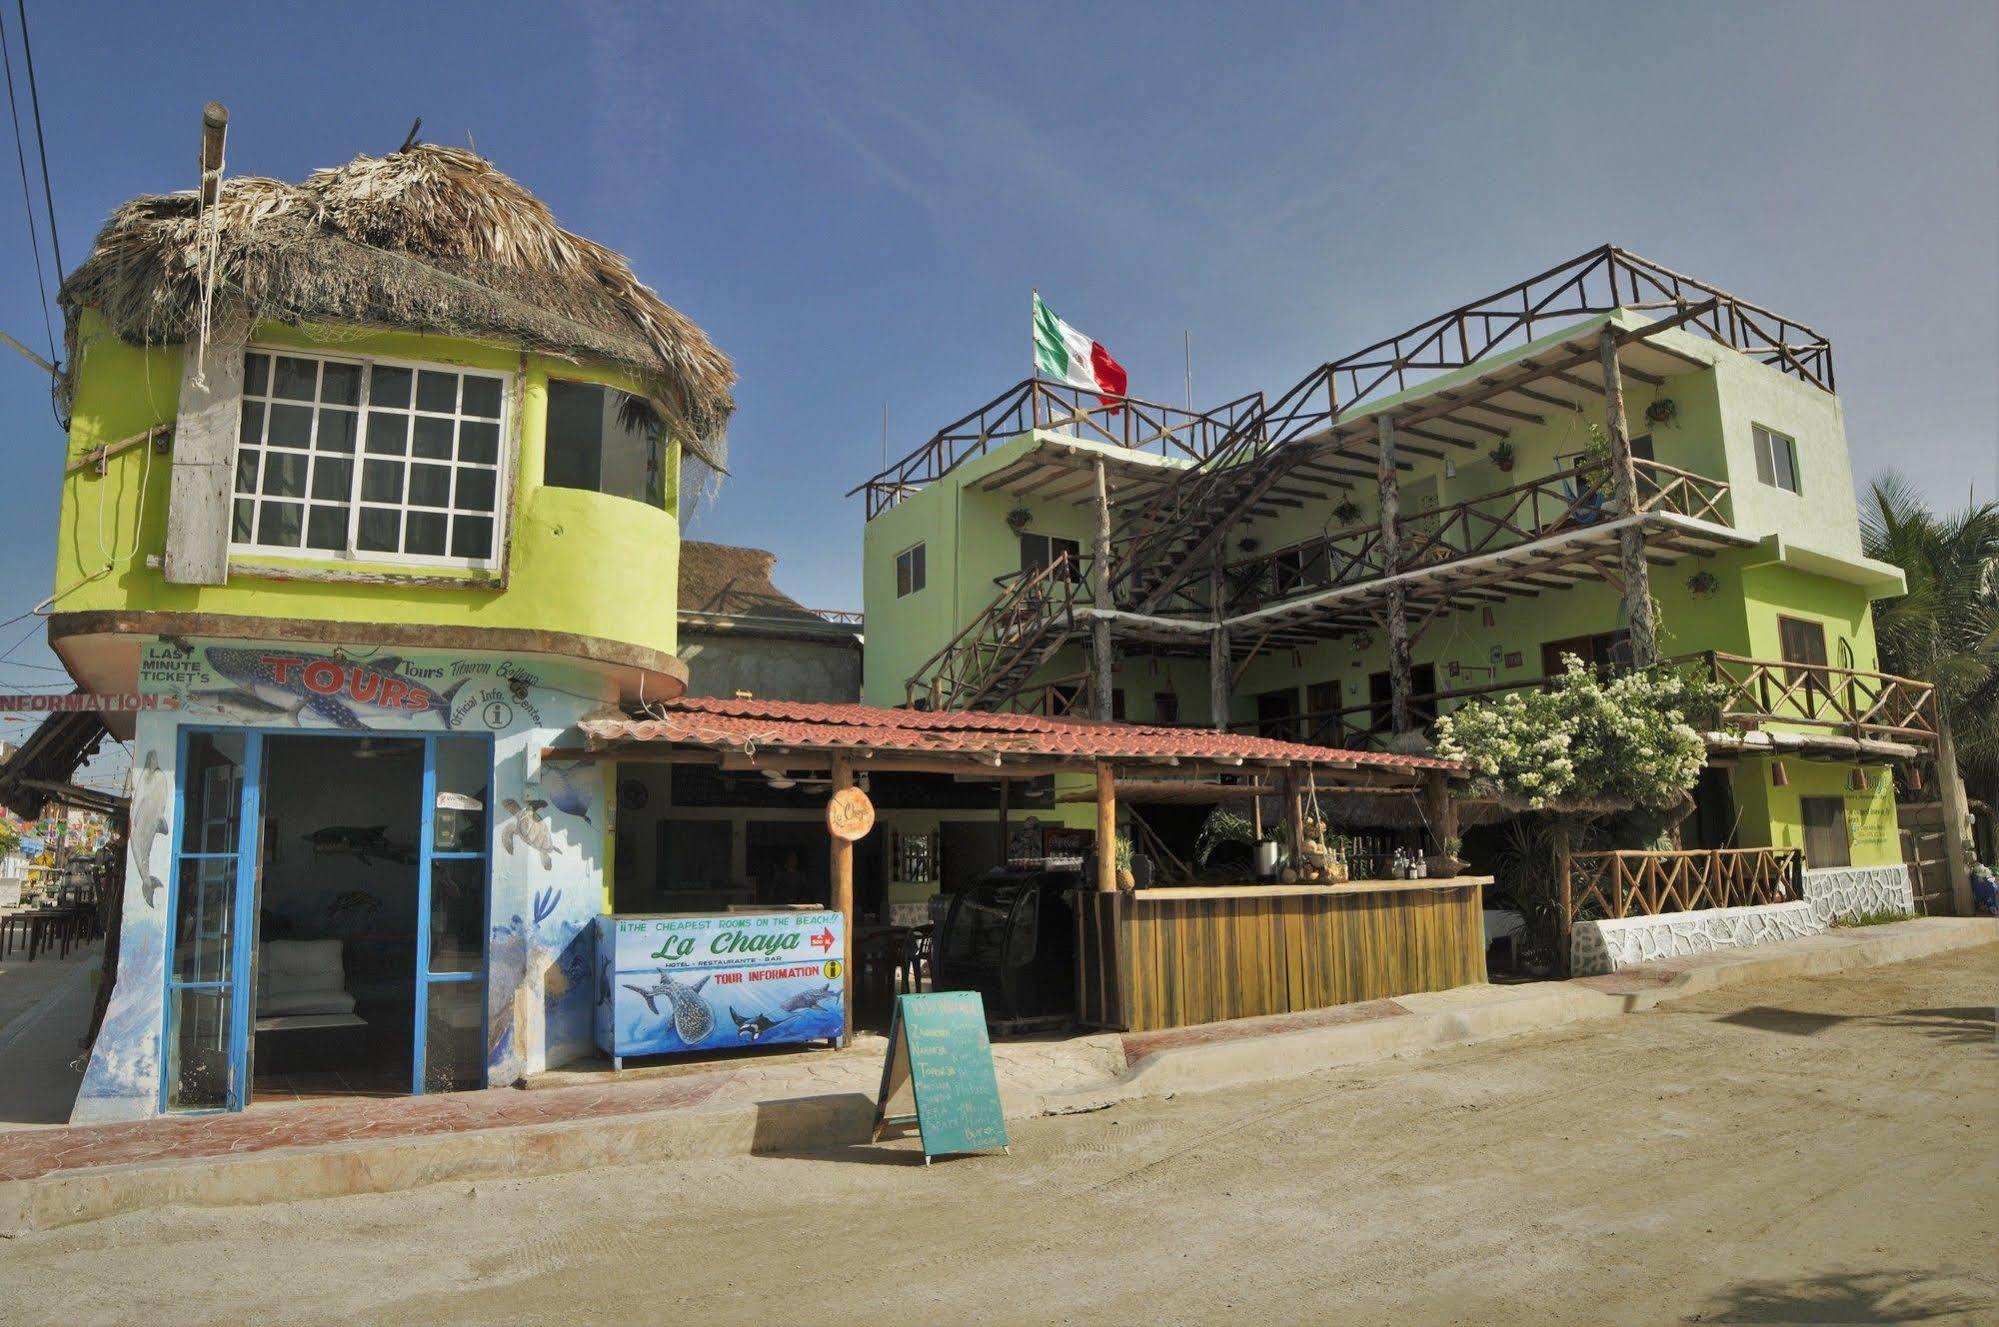
<path fill-rule="evenodd" d="M 70 422 L 74 460 L 104 442 L 172 422 L 180 384 L 180 346 L 140 350 L 104 332 L 86 314 L 84 350 Z M 566 360 L 526 356 L 498 346 L 418 336 L 356 334 L 264 326 L 254 338 L 336 356 L 384 356 L 504 372 L 520 384 L 512 474 L 512 556 L 506 588 L 490 572 L 418 568 L 428 578 L 464 580 L 466 588 L 316 584 L 232 572 L 224 586 L 170 586 L 146 566 L 166 552 L 170 458 L 132 448 L 62 484 L 56 546 L 56 612 L 134 610 L 204 612 L 252 618 L 314 618 L 366 624 L 438 624 L 574 632 L 672 652 L 680 580 L 678 474 L 680 448 L 670 448 L 672 482 L 666 510 L 624 498 L 542 486 L 542 444 L 548 380 L 574 378 L 634 388 L 628 376 Z M 342 560 L 284 560 L 258 554 L 260 564 L 314 570 L 398 570 Z M 400 568 L 412 572 L 410 568 Z M 486 582 L 486 584 L 480 584 Z"/>

